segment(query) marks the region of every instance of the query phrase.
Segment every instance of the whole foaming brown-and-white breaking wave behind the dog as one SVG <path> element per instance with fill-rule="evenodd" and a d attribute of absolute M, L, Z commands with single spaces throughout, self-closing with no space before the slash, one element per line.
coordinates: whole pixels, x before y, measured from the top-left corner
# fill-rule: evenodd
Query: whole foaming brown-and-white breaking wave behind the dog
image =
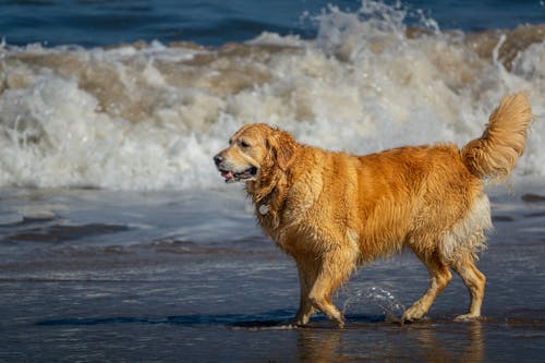
<path fill-rule="evenodd" d="M 160 43 L 1 45 L 0 185 L 219 186 L 211 156 L 253 122 L 358 154 L 461 146 L 481 135 L 504 95 L 519 90 L 537 120 L 516 179 L 543 177 L 545 44 L 521 51 L 508 71 L 423 15 L 431 33 L 408 37 L 405 16 L 399 5 L 373 1 L 354 13 L 330 8 L 318 16 L 316 39 L 267 33 L 244 45 L 255 49 L 241 46 L 242 57 Z M 240 85 L 246 71 L 263 78 Z"/>

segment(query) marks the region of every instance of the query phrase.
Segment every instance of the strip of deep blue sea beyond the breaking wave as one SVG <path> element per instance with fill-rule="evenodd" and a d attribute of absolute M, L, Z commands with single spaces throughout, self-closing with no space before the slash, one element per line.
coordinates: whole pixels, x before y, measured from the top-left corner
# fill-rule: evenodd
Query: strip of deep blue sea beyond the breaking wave
<path fill-rule="evenodd" d="M 398 4 L 416 22 L 420 13 L 441 28 L 484 31 L 545 23 L 542 0 L 385 1 Z M 0 37 L 11 45 L 84 47 L 137 40 L 193 41 L 217 46 L 244 41 L 262 32 L 300 35 L 316 33 L 313 19 L 328 4 L 343 11 L 361 8 L 353 0 L 159 0 L 159 1 L 2 1 Z M 409 21 L 410 23 L 410 21 Z"/>

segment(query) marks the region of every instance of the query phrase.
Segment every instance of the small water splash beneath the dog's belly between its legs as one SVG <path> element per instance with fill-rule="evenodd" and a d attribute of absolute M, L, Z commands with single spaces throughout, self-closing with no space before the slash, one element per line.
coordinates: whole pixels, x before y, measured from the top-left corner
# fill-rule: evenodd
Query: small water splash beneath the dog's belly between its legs
<path fill-rule="evenodd" d="M 360 288 L 355 291 L 348 291 L 348 298 L 342 305 L 342 314 L 347 314 L 349 306 L 371 306 L 380 308 L 387 322 L 396 322 L 403 316 L 405 307 L 396 295 L 380 287 Z"/>

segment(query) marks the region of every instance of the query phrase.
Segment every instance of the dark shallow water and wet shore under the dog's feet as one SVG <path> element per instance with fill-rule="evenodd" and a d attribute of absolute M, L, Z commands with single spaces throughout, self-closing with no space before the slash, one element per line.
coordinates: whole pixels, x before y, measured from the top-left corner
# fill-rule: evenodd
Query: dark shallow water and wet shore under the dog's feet
<path fill-rule="evenodd" d="M 403 253 L 340 291 L 343 330 L 320 315 L 288 326 L 295 266 L 233 189 L 4 191 L 0 360 L 532 362 L 544 353 L 540 186 L 493 191 L 481 322 L 453 322 L 469 302 L 455 278 L 427 320 L 400 325 L 427 281 Z"/>

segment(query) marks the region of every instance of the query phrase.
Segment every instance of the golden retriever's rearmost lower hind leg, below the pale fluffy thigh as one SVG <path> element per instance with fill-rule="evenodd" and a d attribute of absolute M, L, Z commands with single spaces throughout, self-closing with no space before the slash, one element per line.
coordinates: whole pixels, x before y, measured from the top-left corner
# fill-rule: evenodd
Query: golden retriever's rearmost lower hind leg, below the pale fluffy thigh
<path fill-rule="evenodd" d="M 471 257 L 457 261 L 451 265 L 451 267 L 458 275 L 460 275 L 471 295 L 469 313 L 459 315 L 456 319 L 464 320 L 480 317 L 486 277 L 479 270 L 473 258 Z"/>

